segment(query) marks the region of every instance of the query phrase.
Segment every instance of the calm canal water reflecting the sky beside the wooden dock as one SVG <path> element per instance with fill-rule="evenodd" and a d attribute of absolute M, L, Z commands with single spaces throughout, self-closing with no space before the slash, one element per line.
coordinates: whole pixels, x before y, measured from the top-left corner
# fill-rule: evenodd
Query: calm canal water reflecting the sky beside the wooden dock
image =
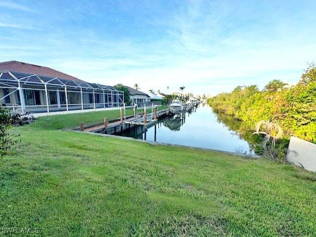
<path fill-rule="evenodd" d="M 222 121 L 223 119 L 219 119 L 211 107 L 207 104 L 200 104 L 195 111 L 186 112 L 185 117 L 165 117 L 158 120 L 156 126 L 152 125 L 146 129 L 143 126 L 132 127 L 130 130 L 116 135 L 169 144 L 254 154 L 248 142 L 237 131 L 232 130 L 232 119 L 230 120 L 230 126 Z M 233 123 L 237 125 L 239 121 L 234 119 Z"/>

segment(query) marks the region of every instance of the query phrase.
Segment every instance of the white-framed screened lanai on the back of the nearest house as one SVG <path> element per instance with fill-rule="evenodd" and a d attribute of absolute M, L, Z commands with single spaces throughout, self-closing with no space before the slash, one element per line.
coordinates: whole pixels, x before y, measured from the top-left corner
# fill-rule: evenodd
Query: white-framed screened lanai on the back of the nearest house
<path fill-rule="evenodd" d="M 0 71 L 0 104 L 15 112 L 42 113 L 122 106 L 111 86 L 17 71 Z"/>

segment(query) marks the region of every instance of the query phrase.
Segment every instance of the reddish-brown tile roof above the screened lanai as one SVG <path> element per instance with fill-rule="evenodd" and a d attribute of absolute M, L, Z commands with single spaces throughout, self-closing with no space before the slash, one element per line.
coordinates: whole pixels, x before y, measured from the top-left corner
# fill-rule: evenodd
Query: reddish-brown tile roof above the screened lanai
<path fill-rule="evenodd" d="M 18 72 L 37 74 L 37 75 L 42 75 L 42 76 L 58 77 L 61 79 L 74 80 L 77 82 L 84 82 L 83 80 L 80 80 L 77 77 L 68 75 L 68 74 L 63 73 L 61 71 L 54 70 L 52 68 L 22 63 L 22 62 L 18 62 L 18 61 L 8 61 L 8 62 L 0 63 L 0 71 L 1 70 L 2 71 L 3 70 L 9 70 L 9 71 L 12 70 L 12 71 L 18 71 Z"/>

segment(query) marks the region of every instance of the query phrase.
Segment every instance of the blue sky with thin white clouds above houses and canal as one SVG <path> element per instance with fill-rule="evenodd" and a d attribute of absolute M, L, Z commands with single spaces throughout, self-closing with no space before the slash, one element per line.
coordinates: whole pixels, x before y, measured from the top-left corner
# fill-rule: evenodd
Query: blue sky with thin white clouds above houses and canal
<path fill-rule="evenodd" d="M 315 0 L 0 0 L 0 12 L 0 62 L 142 91 L 294 84 L 316 62 Z"/>

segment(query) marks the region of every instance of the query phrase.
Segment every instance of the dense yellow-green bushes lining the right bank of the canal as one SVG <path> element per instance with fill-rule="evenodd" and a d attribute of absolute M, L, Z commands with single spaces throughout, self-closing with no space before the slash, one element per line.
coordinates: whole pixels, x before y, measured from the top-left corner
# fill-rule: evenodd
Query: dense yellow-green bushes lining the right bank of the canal
<path fill-rule="evenodd" d="M 273 80 L 263 91 L 256 85 L 238 86 L 208 103 L 215 112 L 240 119 L 240 129 L 253 131 L 260 120 L 276 120 L 285 137 L 294 135 L 316 143 L 316 66 L 311 64 L 296 85 L 284 85 Z"/>

